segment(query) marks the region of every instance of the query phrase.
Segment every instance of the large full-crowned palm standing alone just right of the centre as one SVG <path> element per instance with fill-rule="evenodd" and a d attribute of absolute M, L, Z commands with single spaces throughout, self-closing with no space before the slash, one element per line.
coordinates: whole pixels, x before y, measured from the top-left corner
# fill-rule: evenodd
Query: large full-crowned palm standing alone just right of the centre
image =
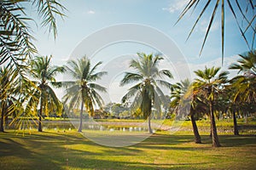
<path fill-rule="evenodd" d="M 138 59 L 131 59 L 130 67 L 134 72 L 125 72 L 125 77 L 121 80 L 120 86 L 129 83 L 136 83 L 122 98 L 125 103 L 127 99 L 133 97 L 131 107 L 140 107 L 144 119 L 148 119 L 148 131 L 153 133 L 150 125 L 152 109 L 160 111 L 165 95 L 159 85 L 171 88 L 171 84 L 162 80 L 163 77 L 172 78 L 172 73 L 168 70 L 159 70 L 159 62 L 163 59 L 160 55 L 137 53 Z"/>

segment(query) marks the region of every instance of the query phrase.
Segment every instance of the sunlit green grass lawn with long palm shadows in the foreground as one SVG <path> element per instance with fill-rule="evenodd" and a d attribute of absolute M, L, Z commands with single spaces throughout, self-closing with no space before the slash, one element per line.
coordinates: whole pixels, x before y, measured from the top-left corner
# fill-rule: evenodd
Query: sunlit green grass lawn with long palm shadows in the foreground
<path fill-rule="evenodd" d="M 219 135 L 194 144 L 192 133 L 158 132 L 141 143 L 115 148 L 73 131 L 0 133 L 0 169 L 255 169 L 255 135 Z"/>

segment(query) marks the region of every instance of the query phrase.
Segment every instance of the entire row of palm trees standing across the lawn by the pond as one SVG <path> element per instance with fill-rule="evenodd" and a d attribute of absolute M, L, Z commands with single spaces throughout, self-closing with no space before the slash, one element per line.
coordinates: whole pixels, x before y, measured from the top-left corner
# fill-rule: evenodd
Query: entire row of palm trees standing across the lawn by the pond
<path fill-rule="evenodd" d="M 236 114 L 253 112 L 256 99 L 256 51 L 240 55 L 241 59 L 230 69 L 238 70 L 236 77 L 228 79 L 229 72 L 220 71 L 219 67 L 205 68 L 195 71 L 197 78 L 193 82 L 185 79 L 171 84 L 172 73 L 160 70 L 159 63 L 163 58 L 160 54 L 138 53 L 137 59 L 131 59 L 131 72 L 125 72 L 120 86 L 132 84 L 122 98 L 122 102 L 132 99 L 131 108 L 140 108 L 143 117 L 148 119 L 148 131 L 152 133 L 150 119 L 152 111 L 159 111 L 166 107 L 166 94 L 162 87 L 170 89 L 171 103 L 176 116 L 190 116 L 195 143 L 201 143 L 201 137 L 196 126 L 196 118 L 207 114 L 211 120 L 212 145 L 220 146 L 215 123 L 215 114 L 230 111 L 234 117 L 235 134 L 238 134 Z M 51 56 L 35 57 L 30 59 L 19 70 L 11 66 L 2 66 L 0 71 L 0 111 L 3 132 L 4 120 L 13 116 L 10 124 L 19 127 L 32 123 L 38 117 L 38 131 L 42 132 L 42 116 L 48 116 L 55 111 L 61 114 L 63 104 L 68 111 L 80 107 L 79 132 L 82 132 L 82 117 L 84 110 L 94 116 L 94 107 L 102 107 L 103 99 L 100 92 L 107 89 L 96 81 L 107 74 L 106 71 L 97 71 L 102 62 L 91 65 L 90 59 L 83 57 L 70 60 L 66 66 L 50 64 Z M 73 78 L 71 81 L 57 82 L 58 73 L 68 72 Z M 167 81 L 166 81 L 167 80 Z M 63 102 L 55 95 L 55 88 L 66 88 Z M 135 111 L 134 110 L 134 111 Z M 27 121 L 27 119 L 32 121 Z"/>

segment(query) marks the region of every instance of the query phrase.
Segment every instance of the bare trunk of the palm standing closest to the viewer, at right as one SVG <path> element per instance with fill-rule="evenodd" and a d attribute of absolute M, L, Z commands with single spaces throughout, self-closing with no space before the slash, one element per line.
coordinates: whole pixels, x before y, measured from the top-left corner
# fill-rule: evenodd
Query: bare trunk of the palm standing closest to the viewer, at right
<path fill-rule="evenodd" d="M 211 132 L 212 132 L 212 146 L 213 147 L 219 147 L 219 141 L 218 141 L 218 134 L 217 134 L 217 127 L 215 122 L 215 117 L 213 113 L 213 104 L 212 101 L 210 101 L 210 116 L 211 116 Z"/>

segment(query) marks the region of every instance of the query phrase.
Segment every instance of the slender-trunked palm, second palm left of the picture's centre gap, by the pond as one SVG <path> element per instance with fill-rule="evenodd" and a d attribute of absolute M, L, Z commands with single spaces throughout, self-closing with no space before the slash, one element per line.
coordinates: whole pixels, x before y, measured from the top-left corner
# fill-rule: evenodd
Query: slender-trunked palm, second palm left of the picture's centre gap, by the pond
<path fill-rule="evenodd" d="M 67 62 L 67 71 L 72 75 L 73 81 L 63 82 L 67 87 L 66 94 L 63 97 L 64 103 L 69 102 L 69 111 L 81 105 L 79 132 L 82 132 L 82 120 L 84 106 L 90 116 L 94 116 L 94 105 L 102 107 L 103 99 L 99 92 L 106 92 L 106 88 L 97 84 L 96 81 L 106 75 L 106 71 L 96 72 L 96 69 L 102 62 L 96 65 L 90 64 L 90 59 L 84 56 L 82 59 L 70 60 Z"/>

